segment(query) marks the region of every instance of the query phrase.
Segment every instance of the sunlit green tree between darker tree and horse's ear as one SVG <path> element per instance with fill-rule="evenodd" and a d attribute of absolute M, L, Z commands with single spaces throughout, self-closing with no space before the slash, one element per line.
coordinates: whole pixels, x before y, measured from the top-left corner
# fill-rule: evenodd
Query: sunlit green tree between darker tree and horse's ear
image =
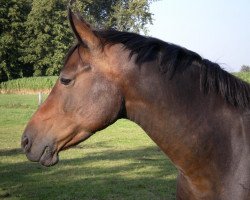
<path fill-rule="evenodd" d="M 73 41 L 67 20 L 67 1 L 33 0 L 26 22 L 23 61 L 34 66 L 34 76 L 58 74 Z"/>

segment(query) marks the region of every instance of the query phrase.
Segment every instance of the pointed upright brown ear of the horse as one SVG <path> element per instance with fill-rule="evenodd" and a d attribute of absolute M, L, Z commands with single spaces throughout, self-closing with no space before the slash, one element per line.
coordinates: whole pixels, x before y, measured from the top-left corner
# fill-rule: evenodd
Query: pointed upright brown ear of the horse
<path fill-rule="evenodd" d="M 78 41 L 82 42 L 87 48 L 93 50 L 100 46 L 100 39 L 94 34 L 90 25 L 82 19 L 79 14 L 74 14 L 68 10 L 68 17 L 72 30 Z"/>

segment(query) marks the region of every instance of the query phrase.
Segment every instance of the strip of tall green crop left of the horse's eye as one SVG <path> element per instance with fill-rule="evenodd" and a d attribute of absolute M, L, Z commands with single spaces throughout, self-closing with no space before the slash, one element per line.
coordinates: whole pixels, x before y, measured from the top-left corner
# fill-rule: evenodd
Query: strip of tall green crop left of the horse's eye
<path fill-rule="evenodd" d="M 12 93 L 19 91 L 50 90 L 57 80 L 56 76 L 30 77 L 0 83 L 0 92 Z"/>

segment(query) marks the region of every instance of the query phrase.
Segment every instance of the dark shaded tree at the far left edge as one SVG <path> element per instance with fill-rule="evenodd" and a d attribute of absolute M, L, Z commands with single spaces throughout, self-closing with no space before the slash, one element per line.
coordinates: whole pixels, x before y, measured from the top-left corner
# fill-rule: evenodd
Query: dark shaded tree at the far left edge
<path fill-rule="evenodd" d="M 30 75 L 20 62 L 24 21 L 31 9 L 29 0 L 0 1 L 0 81 Z"/>

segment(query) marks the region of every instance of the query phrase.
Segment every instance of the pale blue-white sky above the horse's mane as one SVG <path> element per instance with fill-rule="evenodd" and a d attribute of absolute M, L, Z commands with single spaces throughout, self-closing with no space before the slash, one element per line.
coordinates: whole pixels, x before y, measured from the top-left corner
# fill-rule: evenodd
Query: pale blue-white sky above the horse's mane
<path fill-rule="evenodd" d="M 195 51 L 229 72 L 250 66 L 250 0 L 161 0 L 149 35 Z"/>

